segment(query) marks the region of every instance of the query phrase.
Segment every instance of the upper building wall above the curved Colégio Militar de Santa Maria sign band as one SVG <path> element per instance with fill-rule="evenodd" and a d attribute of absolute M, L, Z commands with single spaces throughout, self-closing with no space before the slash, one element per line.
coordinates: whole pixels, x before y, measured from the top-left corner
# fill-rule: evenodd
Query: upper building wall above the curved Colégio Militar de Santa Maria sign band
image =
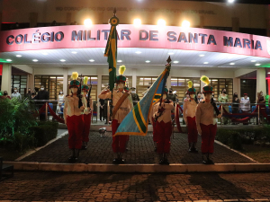
<path fill-rule="evenodd" d="M 37 19 L 33 20 L 37 22 L 56 20 L 67 24 L 74 21 L 83 24 L 86 18 L 91 18 L 95 24 L 108 23 L 115 6 L 123 24 L 132 23 L 134 18 L 140 18 L 143 24 L 156 24 L 158 18 L 163 18 L 168 25 L 173 26 L 188 20 L 192 27 L 232 27 L 232 19 L 237 19 L 240 27 L 266 29 L 266 19 L 269 16 L 267 6 L 257 4 L 168 0 L 4 0 L 2 22 L 29 22 L 35 13 Z"/>

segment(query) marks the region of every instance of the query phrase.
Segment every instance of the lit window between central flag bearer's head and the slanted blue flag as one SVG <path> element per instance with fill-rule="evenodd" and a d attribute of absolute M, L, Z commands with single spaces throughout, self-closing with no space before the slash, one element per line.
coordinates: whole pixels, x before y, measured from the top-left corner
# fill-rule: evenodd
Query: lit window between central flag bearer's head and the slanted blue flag
<path fill-rule="evenodd" d="M 145 92 L 156 80 L 157 76 L 137 76 L 136 92 L 138 93 L 140 100 L 143 97 L 142 93 Z"/>

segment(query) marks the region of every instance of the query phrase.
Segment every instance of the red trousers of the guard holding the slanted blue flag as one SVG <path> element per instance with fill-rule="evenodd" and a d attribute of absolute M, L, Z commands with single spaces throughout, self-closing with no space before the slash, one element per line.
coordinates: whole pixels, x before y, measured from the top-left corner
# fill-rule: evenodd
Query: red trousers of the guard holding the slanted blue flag
<path fill-rule="evenodd" d="M 169 121 L 164 123 L 161 122 L 156 123 L 156 135 L 157 135 L 157 154 L 168 154 L 170 152 L 170 140 L 172 135 L 172 122 Z"/>

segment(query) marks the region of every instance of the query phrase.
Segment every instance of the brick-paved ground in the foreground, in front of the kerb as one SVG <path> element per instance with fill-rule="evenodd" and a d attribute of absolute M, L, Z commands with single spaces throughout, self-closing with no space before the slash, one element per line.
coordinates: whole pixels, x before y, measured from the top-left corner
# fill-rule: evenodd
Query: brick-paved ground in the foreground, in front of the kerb
<path fill-rule="evenodd" d="M 15 172 L 1 200 L 269 201 L 269 173 L 113 174 Z"/>

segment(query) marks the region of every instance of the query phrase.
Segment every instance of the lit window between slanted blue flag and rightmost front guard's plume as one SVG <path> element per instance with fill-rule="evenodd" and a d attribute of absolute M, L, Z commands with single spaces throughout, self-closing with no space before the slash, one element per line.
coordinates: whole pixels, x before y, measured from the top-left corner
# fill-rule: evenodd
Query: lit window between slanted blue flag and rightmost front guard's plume
<path fill-rule="evenodd" d="M 171 78 L 171 88 L 173 92 L 176 91 L 178 101 L 182 102 L 185 97 L 185 92 L 188 89 L 188 82 L 193 82 L 193 87 L 196 89 L 196 92 L 201 92 L 201 81 L 200 78 Z"/>

